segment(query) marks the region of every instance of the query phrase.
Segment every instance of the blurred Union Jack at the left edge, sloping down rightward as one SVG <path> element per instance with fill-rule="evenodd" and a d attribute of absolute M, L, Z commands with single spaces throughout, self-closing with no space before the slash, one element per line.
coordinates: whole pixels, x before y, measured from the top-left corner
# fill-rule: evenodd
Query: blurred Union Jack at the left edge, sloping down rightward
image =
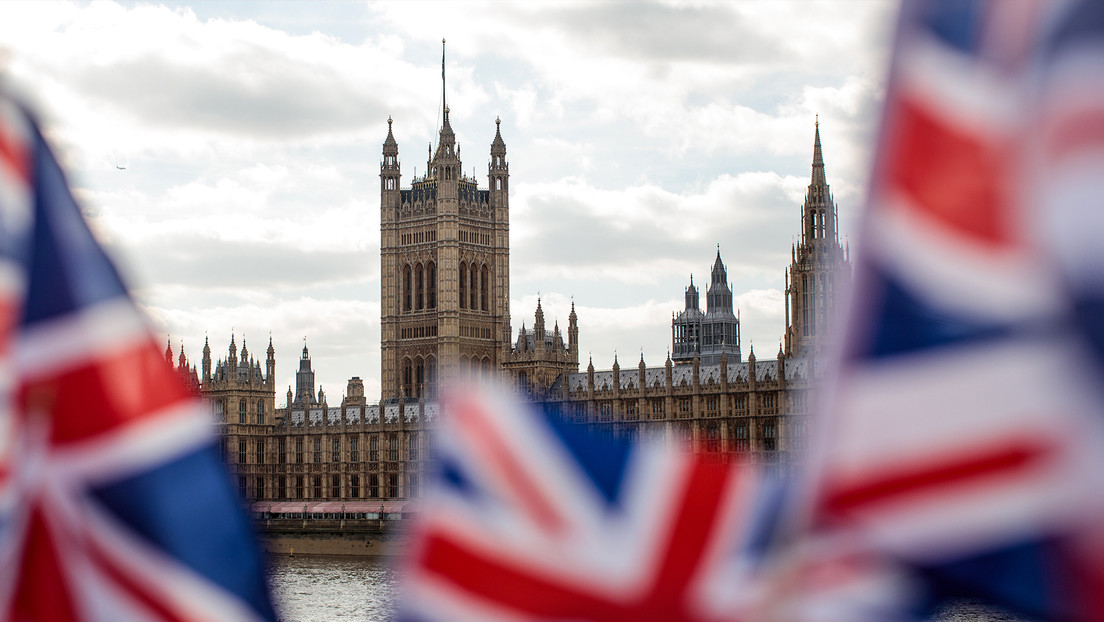
<path fill-rule="evenodd" d="M 0 96 L 0 620 L 274 620 L 209 414 Z"/>

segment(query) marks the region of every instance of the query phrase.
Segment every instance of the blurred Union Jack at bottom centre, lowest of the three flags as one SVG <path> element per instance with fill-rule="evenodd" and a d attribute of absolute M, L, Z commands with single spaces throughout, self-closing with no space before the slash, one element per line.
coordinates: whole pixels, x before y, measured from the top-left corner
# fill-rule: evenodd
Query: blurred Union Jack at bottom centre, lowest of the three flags
<path fill-rule="evenodd" d="M 781 484 L 492 394 L 444 405 L 401 620 L 725 621 L 769 600 Z"/>

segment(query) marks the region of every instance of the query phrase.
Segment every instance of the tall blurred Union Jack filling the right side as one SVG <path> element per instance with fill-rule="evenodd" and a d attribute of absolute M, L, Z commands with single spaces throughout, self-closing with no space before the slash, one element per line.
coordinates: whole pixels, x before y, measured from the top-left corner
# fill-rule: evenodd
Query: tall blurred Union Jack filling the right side
<path fill-rule="evenodd" d="M 1102 619 L 1104 4 L 906 3 L 875 162 L 814 548 Z"/>

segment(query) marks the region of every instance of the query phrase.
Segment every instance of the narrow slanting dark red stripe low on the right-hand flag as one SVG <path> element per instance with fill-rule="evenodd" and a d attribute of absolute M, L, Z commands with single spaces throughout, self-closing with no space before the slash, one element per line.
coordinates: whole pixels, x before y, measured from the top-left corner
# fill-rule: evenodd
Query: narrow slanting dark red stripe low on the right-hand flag
<path fill-rule="evenodd" d="M 924 465 L 885 466 L 867 479 L 846 485 L 829 483 L 821 508 L 829 516 L 840 516 L 914 495 L 935 495 L 957 486 L 1023 472 L 1052 453 L 1050 446 L 1026 441 L 988 452 L 974 447 L 966 454 L 933 456 Z"/>

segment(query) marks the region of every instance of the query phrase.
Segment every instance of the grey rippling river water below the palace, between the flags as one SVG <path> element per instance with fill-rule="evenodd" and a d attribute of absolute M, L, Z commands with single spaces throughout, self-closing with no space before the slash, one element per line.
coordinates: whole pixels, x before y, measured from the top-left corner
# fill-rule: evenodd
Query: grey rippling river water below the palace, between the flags
<path fill-rule="evenodd" d="M 399 573 L 380 557 L 276 557 L 273 592 L 283 622 L 384 622 L 394 612 Z M 972 603 L 948 609 L 941 622 L 1016 622 Z"/>

